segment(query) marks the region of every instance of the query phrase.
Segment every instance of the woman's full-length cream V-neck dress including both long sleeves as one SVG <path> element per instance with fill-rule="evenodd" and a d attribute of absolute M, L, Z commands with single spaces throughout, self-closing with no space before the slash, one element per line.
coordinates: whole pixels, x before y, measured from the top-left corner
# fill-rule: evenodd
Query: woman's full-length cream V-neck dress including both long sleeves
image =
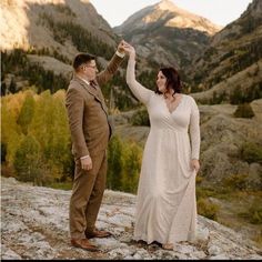
<path fill-rule="evenodd" d="M 190 241 L 196 230 L 195 171 L 190 161 L 199 159 L 199 109 L 192 97 L 182 94 L 170 112 L 163 95 L 135 80 L 134 67 L 130 58 L 127 82 L 145 104 L 151 128 L 140 172 L 133 239 L 149 244 Z"/>

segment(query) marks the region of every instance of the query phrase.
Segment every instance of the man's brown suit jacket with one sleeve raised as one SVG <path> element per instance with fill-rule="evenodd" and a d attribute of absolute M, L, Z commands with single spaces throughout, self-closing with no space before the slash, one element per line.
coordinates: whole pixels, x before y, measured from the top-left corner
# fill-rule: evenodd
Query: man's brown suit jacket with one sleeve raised
<path fill-rule="evenodd" d="M 75 159 L 97 155 L 105 150 L 111 135 L 108 109 L 100 84 L 107 83 L 123 59 L 114 54 L 108 67 L 97 74 L 94 87 L 77 75 L 70 81 L 66 94 L 72 153 Z"/>

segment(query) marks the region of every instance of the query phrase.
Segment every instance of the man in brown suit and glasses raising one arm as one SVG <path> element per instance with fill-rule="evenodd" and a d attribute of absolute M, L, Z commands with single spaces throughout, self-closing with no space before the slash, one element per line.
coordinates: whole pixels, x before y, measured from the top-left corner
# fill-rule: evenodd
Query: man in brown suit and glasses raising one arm
<path fill-rule="evenodd" d="M 123 60 L 124 41 L 105 70 L 98 73 L 95 58 L 80 53 L 74 58 L 66 107 L 72 140 L 75 169 L 70 200 L 69 224 L 71 244 L 97 251 L 91 238 L 107 238 L 107 231 L 95 229 L 107 181 L 107 145 L 111 135 L 108 112 L 100 85 L 107 83 Z"/>

